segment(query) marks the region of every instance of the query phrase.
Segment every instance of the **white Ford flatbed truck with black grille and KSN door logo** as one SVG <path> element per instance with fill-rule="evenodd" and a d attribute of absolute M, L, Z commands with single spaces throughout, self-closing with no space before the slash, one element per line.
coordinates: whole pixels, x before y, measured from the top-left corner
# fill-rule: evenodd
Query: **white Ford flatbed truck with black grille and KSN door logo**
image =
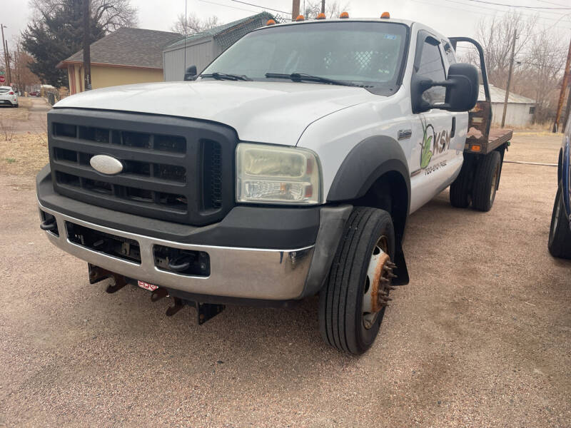
<path fill-rule="evenodd" d="M 390 18 L 268 24 L 186 81 L 56 103 L 41 228 L 90 282 L 134 282 L 199 323 L 318 294 L 323 339 L 360 354 L 408 283 L 408 215 L 450 185 L 453 205 L 489 210 L 510 135 L 490 137 L 484 63 L 477 103 L 477 68 L 455 60 L 470 39 Z"/>

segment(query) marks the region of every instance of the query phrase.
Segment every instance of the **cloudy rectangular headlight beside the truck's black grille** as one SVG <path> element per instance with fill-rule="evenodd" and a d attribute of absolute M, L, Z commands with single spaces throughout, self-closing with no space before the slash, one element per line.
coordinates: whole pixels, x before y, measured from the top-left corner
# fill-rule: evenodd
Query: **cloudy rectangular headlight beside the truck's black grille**
<path fill-rule="evenodd" d="M 241 143 L 236 171 L 238 202 L 320 203 L 319 161 L 311 151 Z"/>

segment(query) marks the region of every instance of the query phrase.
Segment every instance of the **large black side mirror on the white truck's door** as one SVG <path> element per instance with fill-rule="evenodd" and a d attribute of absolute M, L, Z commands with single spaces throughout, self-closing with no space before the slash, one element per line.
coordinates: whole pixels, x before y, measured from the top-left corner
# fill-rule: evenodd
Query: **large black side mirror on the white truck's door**
<path fill-rule="evenodd" d="M 423 93 L 433 86 L 445 86 L 444 103 L 430 104 L 423 100 Z M 443 82 L 413 77 L 411 86 L 413 113 L 422 113 L 431 108 L 448 111 L 470 111 L 477 102 L 480 81 L 477 68 L 472 64 L 455 63 L 448 68 L 448 78 Z"/>

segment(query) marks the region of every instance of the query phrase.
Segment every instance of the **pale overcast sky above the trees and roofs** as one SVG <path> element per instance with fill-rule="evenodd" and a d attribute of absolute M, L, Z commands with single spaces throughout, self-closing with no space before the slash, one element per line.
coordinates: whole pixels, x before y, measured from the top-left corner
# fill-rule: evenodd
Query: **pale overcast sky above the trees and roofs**
<path fill-rule="evenodd" d="M 246 3 L 265 6 L 280 11 L 291 11 L 291 0 L 243 0 Z M 331 1 L 331 0 L 328 0 Z M 571 0 L 484 0 L 500 4 L 532 7 L 567 7 Z M 187 0 L 188 11 L 198 16 L 216 15 L 222 23 L 241 19 L 262 8 L 238 3 L 233 0 Z M 303 0 L 300 0 L 303 7 Z M 474 36 L 475 25 L 480 19 L 492 19 L 502 15 L 509 7 L 477 3 L 474 0 L 348 0 L 348 11 L 353 17 L 375 17 L 389 11 L 395 18 L 421 21 L 447 36 Z M 138 7 L 138 26 L 143 29 L 169 31 L 176 16 L 184 11 L 185 0 L 131 0 Z M 514 10 L 514 9 L 511 9 Z M 537 11 L 515 9 L 522 14 L 534 15 Z M 268 9 L 268 11 L 272 12 Z M 10 43 L 31 19 L 28 0 L 0 0 L 0 23 L 7 26 L 4 34 Z M 571 10 L 544 9 L 538 23 L 552 27 L 558 36 L 571 37 Z M 10 48 L 10 46 L 9 46 Z"/>

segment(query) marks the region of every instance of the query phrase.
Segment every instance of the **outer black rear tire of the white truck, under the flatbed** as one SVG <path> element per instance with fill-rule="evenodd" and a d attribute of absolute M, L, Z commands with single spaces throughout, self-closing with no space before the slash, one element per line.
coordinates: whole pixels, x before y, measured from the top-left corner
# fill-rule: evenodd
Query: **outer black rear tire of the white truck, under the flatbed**
<path fill-rule="evenodd" d="M 494 205 L 497 183 L 500 180 L 500 152 L 492 151 L 476 165 L 472 206 L 476 210 L 489 211 Z"/>

